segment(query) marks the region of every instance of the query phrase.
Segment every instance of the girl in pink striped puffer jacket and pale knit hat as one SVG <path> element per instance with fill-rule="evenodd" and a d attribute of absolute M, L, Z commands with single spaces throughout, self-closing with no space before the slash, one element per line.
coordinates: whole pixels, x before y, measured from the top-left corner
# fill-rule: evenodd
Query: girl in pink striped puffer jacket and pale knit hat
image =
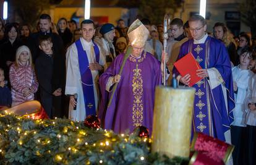
<path fill-rule="evenodd" d="M 34 99 L 38 90 L 30 49 L 23 45 L 16 51 L 15 63 L 10 67 L 12 106 Z"/>

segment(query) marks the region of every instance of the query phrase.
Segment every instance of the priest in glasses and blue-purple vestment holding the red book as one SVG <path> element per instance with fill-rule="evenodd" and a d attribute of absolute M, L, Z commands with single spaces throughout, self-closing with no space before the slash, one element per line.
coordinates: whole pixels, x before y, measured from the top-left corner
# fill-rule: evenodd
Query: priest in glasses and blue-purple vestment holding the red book
<path fill-rule="evenodd" d="M 224 44 L 208 36 L 206 29 L 207 25 L 202 16 L 190 17 L 189 30 L 193 38 L 182 44 L 177 61 L 192 53 L 200 69 L 194 75 L 184 75 L 174 67 L 173 73 L 177 75 L 179 82 L 196 89 L 193 132 L 202 132 L 231 143 L 229 129 L 233 122 L 232 110 L 235 105 L 231 63 Z M 192 85 L 195 77 L 202 79 Z"/>

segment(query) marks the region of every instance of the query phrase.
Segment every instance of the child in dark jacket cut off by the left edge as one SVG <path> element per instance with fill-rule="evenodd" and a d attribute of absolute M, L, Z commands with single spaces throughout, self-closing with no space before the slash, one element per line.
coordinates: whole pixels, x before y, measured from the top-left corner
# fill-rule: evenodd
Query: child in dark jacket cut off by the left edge
<path fill-rule="evenodd" d="M 11 107 L 12 96 L 7 82 L 4 80 L 4 69 L 0 68 L 0 109 L 3 107 Z"/>

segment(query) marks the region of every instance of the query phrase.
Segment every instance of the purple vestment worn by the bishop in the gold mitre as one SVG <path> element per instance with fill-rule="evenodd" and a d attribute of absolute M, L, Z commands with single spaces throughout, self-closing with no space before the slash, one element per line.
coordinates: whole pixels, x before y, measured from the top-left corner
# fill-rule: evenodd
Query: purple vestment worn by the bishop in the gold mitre
<path fill-rule="evenodd" d="M 150 130 L 153 127 L 153 108 L 155 88 L 161 84 L 160 62 L 150 53 L 142 52 L 139 59 L 128 57 L 115 95 L 108 106 L 112 91 L 106 91 L 109 77 L 119 74 L 124 54 L 120 54 L 100 77 L 102 100 L 99 117 L 105 129 L 115 133 L 132 132 L 143 125 Z"/>

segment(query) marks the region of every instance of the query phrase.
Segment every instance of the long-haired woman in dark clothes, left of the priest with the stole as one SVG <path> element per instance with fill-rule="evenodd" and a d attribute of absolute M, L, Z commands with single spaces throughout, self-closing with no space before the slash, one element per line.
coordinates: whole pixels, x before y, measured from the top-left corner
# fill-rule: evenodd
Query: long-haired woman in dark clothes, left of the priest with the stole
<path fill-rule="evenodd" d="M 69 28 L 67 27 L 67 20 L 65 18 L 61 18 L 58 21 L 58 33 L 63 40 L 64 47 L 67 48 L 72 42 L 72 33 L 70 32 Z"/>

